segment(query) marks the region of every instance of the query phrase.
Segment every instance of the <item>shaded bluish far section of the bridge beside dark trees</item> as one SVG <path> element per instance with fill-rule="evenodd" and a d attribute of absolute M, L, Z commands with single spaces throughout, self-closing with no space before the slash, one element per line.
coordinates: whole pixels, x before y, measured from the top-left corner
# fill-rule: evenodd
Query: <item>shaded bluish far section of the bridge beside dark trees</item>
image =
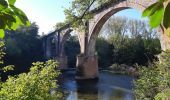
<path fill-rule="evenodd" d="M 64 52 L 64 44 L 72 30 L 69 27 L 55 30 L 43 37 L 44 57 L 46 60 L 55 59 L 60 69 L 67 69 L 67 56 Z"/>

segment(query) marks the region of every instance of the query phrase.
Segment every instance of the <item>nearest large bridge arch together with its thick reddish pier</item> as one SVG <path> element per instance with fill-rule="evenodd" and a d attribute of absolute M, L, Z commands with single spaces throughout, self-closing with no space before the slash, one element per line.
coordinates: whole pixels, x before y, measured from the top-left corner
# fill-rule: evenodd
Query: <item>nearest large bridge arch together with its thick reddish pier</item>
<path fill-rule="evenodd" d="M 82 73 L 82 75 L 78 75 L 78 78 L 89 79 L 98 77 L 98 60 L 97 55 L 95 55 L 96 39 L 102 26 L 112 15 L 129 8 L 142 12 L 155 2 L 157 2 L 157 0 L 116 0 L 116 2 L 106 7 L 102 6 L 99 9 L 92 10 L 91 12 L 94 16 L 88 22 L 88 30 L 83 30 L 81 32 L 83 34 L 78 34 L 80 38 L 81 55 L 77 56 L 76 66 L 78 67 L 78 72 Z M 170 49 L 170 38 L 163 34 L 163 27 L 159 27 L 158 31 L 161 33 L 160 42 L 162 49 Z"/>

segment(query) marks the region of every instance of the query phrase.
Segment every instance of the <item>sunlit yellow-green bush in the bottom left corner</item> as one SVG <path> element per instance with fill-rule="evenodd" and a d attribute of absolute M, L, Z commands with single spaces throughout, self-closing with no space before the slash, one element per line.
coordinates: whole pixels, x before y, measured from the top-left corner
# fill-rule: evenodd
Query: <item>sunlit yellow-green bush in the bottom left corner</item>
<path fill-rule="evenodd" d="M 0 86 L 1 100 L 58 100 L 62 94 L 57 89 L 57 63 L 50 60 L 45 63 L 36 62 L 28 73 L 9 76 Z M 50 93 L 52 91 L 52 93 Z"/>

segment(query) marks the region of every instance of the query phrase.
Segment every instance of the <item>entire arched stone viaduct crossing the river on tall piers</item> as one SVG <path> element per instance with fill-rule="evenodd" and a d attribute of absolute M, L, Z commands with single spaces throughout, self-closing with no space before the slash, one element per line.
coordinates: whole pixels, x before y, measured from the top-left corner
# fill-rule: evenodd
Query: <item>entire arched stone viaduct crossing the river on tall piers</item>
<path fill-rule="evenodd" d="M 89 79 L 98 76 L 98 60 L 95 54 L 95 44 L 99 32 L 104 23 L 115 13 L 124 9 L 137 9 L 143 11 L 157 0 L 117 0 L 107 6 L 93 9 L 93 18 L 86 22 L 84 30 L 74 30 L 78 33 L 81 54 L 77 56 L 77 78 Z M 164 34 L 162 25 L 157 29 L 160 34 L 160 42 L 163 50 L 170 49 L 170 38 Z M 64 54 L 64 42 L 72 30 L 70 27 L 56 30 L 44 39 L 45 56 L 47 59 L 56 58 L 61 68 L 66 68 L 67 57 Z M 61 36 L 61 34 L 63 34 Z M 53 44 L 53 45 L 52 45 Z M 54 47 L 53 47 L 54 46 Z M 54 48 L 54 50 L 53 50 Z"/>

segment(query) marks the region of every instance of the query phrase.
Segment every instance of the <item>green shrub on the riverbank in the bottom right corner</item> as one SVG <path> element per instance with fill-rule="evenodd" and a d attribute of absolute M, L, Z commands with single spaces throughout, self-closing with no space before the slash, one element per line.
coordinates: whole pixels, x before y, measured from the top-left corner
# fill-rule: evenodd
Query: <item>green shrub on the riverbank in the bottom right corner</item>
<path fill-rule="evenodd" d="M 170 91 L 170 50 L 160 55 L 160 62 L 139 68 L 140 77 L 135 83 L 137 99 L 168 99 Z"/>

